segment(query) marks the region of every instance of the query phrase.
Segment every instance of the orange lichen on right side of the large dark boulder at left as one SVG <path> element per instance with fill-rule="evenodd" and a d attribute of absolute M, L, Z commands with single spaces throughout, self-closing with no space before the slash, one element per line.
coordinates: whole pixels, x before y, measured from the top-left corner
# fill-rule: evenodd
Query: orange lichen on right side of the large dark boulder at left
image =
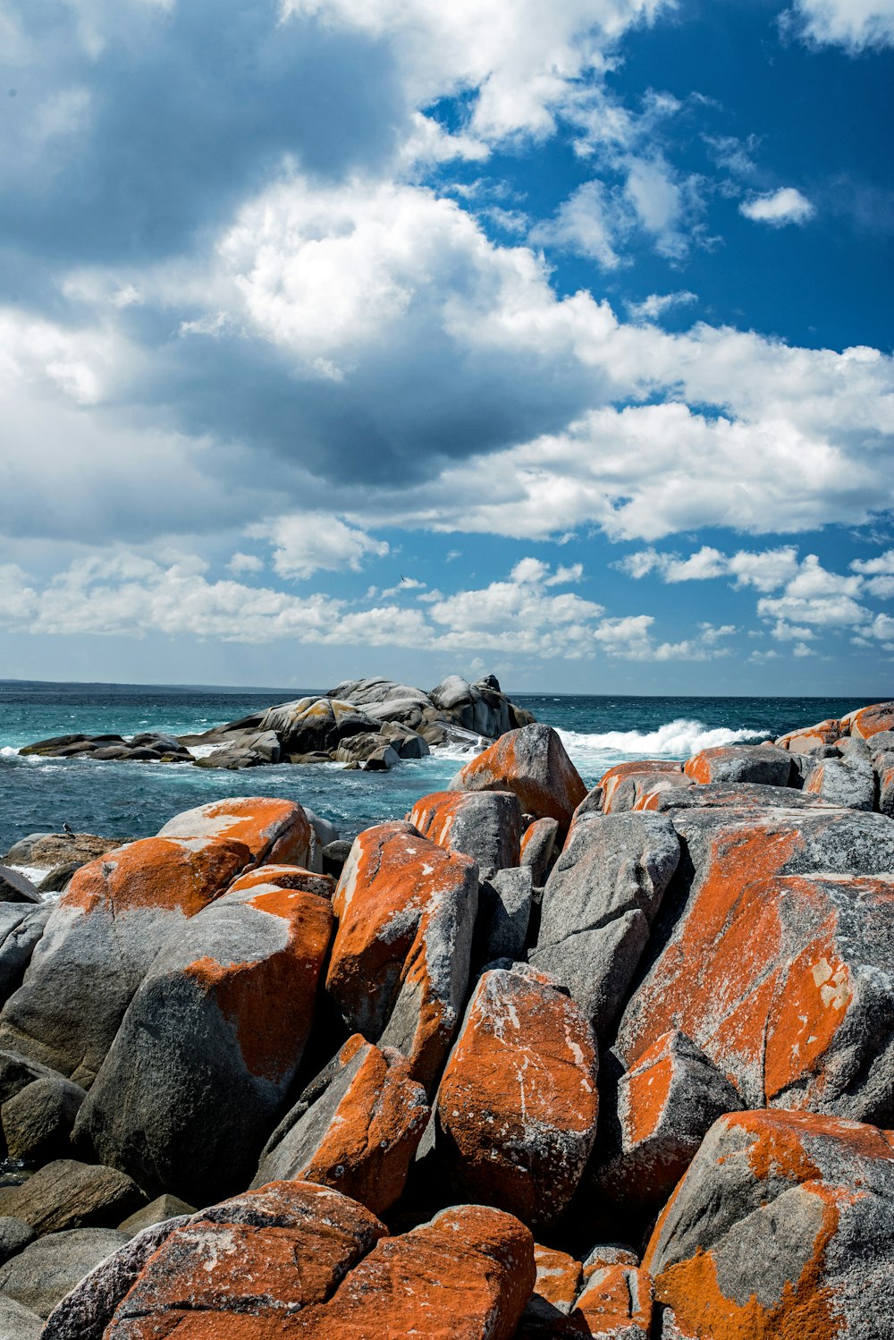
<path fill-rule="evenodd" d="M 293 888 L 258 892 L 246 906 L 285 923 L 286 945 L 257 959 L 194 959 L 183 976 L 214 997 L 233 1025 L 246 1069 L 280 1084 L 301 1055 L 332 934 L 325 898 Z"/>

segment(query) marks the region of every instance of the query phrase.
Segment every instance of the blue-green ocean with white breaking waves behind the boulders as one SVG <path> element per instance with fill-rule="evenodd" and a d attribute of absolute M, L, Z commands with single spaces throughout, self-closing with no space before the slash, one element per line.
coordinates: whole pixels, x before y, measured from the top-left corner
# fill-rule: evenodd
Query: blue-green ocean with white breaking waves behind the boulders
<path fill-rule="evenodd" d="M 403 817 L 414 801 L 444 788 L 462 761 L 455 750 L 401 762 L 387 773 L 340 764 L 222 772 L 189 764 L 95 762 L 20 757 L 35 740 L 83 732 L 187 734 L 316 690 L 206 689 L 158 685 L 0 681 L 0 852 L 31 832 L 147 838 L 181 809 L 219 796 L 286 796 L 331 820 L 343 836 Z M 509 691 L 509 690 L 507 690 Z M 636 698 L 513 694 L 561 733 L 584 780 L 628 758 L 685 758 L 696 749 L 759 741 L 871 698 Z"/>

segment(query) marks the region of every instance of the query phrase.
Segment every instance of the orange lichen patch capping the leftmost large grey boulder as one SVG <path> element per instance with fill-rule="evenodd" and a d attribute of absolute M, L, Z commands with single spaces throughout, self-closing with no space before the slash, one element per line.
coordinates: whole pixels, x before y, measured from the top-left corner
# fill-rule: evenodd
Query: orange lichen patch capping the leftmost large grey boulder
<path fill-rule="evenodd" d="M 115 917 L 138 907 L 193 917 L 250 860 L 248 847 L 234 839 L 143 838 L 82 866 L 59 902 Z"/>

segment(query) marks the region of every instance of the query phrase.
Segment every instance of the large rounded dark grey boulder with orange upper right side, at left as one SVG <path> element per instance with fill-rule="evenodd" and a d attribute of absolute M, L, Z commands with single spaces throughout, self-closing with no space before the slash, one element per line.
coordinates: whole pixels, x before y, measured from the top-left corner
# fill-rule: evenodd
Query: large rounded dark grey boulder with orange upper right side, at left
<path fill-rule="evenodd" d="M 207 1205 L 245 1186 L 301 1061 L 331 927 L 328 899 L 277 887 L 191 918 L 134 996 L 75 1138 L 154 1195 Z"/>

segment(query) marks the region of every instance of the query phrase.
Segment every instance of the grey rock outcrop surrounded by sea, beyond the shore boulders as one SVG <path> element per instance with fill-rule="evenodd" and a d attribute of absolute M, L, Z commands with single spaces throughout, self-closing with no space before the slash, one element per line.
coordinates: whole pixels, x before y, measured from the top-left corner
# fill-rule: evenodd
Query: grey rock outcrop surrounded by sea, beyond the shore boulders
<path fill-rule="evenodd" d="M 424 758 L 432 745 L 468 750 L 530 725 L 530 712 L 506 697 L 494 675 L 468 683 L 448 675 L 432 689 L 392 679 L 347 679 L 321 697 L 296 698 L 195 736 L 145 733 L 56 736 L 19 752 L 104 762 L 190 762 L 198 768 L 261 768 L 280 762 L 341 762 L 383 770 Z M 198 753 L 193 753 L 198 750 Z"/>

